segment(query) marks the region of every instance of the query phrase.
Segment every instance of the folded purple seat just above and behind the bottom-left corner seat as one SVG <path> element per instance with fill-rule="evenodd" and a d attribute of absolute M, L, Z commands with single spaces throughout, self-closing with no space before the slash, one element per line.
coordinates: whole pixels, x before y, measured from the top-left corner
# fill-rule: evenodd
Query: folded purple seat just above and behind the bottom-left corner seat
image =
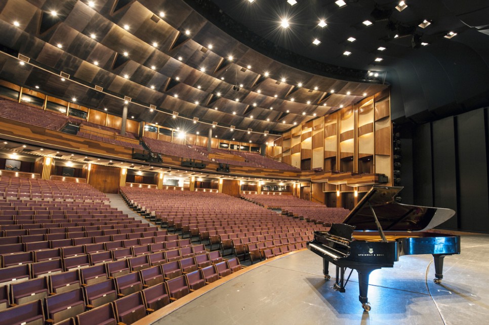
<path fill-rule="evenodd" d="M 10 301 L 21 305 L 26 302 L 43 299 L 49 294 L 48 279 L 46 277 L 34 278 L 10 285 Z"/>

